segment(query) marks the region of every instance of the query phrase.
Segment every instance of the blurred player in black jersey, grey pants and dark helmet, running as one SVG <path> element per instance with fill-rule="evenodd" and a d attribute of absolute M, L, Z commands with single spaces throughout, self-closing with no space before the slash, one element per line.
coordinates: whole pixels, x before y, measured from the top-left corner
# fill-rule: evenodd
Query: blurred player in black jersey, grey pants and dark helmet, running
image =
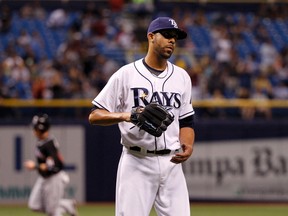
<path fill-rule="evenodd" d="M 35 115 L 32 119 L 34 134 L 38 139 L 35 148 L 37 162 L 27 160 L 28 170 L 38 170 L 39 177 L 31 191 L 28 207 L 48 216 L 75 216 L 75 201 L 64 199 L 65 185 L 69 176 L 63 171 L 63 157 L 57 140 L 50 136 L 50 120 L 47 114 Z"/>

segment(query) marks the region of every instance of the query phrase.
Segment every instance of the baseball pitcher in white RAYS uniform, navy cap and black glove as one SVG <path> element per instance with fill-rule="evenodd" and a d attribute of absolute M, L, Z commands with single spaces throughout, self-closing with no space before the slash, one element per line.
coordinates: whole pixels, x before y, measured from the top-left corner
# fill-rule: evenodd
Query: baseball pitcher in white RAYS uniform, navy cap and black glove
<path fill-rule="evenodd" d="M 92 101 L 89 122 L 121 131 L 116 216 L 148 216 L 153 206 L 159 216 L 190 215 L 181 163 L 193 151 L 192 84 L 168 61 L 186 37 L 174 19 L 153 20 L 147 55 L 115 72 Z"/>

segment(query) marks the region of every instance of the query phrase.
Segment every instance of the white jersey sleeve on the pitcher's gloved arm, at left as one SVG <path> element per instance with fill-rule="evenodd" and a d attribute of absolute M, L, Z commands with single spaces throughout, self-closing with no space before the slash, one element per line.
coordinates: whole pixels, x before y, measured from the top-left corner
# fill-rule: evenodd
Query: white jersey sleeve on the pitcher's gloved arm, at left
<path fill-rule="evenodd" d="M 92 104 L 109 112 L 115 112 L 121 97 L 121 70 L 115 72 L 102 91 L 94 98 Z"/>

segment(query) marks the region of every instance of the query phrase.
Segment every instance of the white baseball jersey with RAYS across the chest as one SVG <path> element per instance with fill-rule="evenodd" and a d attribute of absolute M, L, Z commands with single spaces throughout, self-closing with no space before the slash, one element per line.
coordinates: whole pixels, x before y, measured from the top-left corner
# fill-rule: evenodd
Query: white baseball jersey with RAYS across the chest
<path fill-rule="evenodd" d="M 132 108 L 157 102 L 174 114 L 175 119 L 160 136 L 154 137 L 134 124 L 120 122 L 121 143 L 147 150 L 179 149 L 179 119 L 194 114 L 192 84 L 188 73 L 167 62 L 159 76 L 152 74 L 143 59 L 121 67 L 109 79 L 92 103 L 110 112 L 130 112 Z"/>

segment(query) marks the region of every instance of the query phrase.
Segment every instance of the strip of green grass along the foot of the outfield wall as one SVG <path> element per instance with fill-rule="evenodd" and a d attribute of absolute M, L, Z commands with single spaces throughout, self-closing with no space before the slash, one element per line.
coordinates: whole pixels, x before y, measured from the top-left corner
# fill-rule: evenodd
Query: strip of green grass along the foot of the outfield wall
<path fill-rule="evenodd" d="M 0 205 L 1 216 L 41 216 L 26 206 Z M 79 206 L 79 216 L 114 216 L 113 204 Z M 192 204 L 191 216 L 287 216 L 288 203 L 284 204 Z M 153 210 L 150 216 L 156 216 Z M 181 215 L 175 215 L 181 216 Z"/>

